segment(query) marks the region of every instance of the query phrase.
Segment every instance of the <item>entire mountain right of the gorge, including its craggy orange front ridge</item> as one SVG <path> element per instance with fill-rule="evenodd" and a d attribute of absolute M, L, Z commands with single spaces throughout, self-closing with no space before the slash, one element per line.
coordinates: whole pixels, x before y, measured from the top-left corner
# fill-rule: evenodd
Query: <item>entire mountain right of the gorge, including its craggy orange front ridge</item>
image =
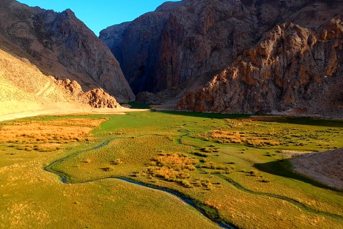
<path fill-rule="evenodd" d="M 179 110 L 337 113 L 342 9 L 342 0 L 166 2 L 100 38 L 134 93 L 190 90 Z"/>

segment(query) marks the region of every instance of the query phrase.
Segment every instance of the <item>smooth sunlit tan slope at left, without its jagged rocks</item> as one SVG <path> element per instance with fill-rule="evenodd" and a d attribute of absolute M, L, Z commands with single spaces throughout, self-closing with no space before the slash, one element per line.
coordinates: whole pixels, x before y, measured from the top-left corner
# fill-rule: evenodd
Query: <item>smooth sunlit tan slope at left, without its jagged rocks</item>
<path fill-rule="evenodd" d="M 25 60 L 24 60 L 25 61 Z M 0 115 L 47 109 L 85 108 L 35 66 L 0 50 Z"/>

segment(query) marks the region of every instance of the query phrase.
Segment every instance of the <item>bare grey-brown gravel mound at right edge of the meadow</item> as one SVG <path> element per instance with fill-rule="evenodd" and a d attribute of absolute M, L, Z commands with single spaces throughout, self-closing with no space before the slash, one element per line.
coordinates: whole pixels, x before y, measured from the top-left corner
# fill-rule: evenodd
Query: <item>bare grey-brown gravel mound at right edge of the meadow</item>
<path fill-rule="evenodd" d="M 291 162 L 295 171 L 343 190 L 343 148 L 298 154 Z"/>

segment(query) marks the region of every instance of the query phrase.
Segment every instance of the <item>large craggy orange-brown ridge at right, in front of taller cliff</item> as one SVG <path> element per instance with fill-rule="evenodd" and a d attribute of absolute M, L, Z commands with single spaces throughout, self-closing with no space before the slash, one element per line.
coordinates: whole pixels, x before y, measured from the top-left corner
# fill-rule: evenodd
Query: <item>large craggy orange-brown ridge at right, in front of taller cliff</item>
<path fill-rule="evenodd" d="M 343 92 L 342 35 L 340 16 L 314 31 L 276 25 L 207 85 L 188 92 L 177 110 L 342 115 L 342 98 L 327 97 Z"/>

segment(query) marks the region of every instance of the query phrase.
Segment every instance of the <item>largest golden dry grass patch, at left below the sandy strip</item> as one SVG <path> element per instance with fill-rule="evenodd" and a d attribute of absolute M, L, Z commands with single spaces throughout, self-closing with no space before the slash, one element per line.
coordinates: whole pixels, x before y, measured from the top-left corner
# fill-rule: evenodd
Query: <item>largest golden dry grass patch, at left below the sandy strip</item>
<path fill-rule="evenodd" d="M 90 131 L 106 118 L 100 119 L 57 119 L 52 121 L 15 122 L 0 128 L 0 143 L 18 150 L 51 152 L 61 149 L 60 144 L 90 141 Z"/>

